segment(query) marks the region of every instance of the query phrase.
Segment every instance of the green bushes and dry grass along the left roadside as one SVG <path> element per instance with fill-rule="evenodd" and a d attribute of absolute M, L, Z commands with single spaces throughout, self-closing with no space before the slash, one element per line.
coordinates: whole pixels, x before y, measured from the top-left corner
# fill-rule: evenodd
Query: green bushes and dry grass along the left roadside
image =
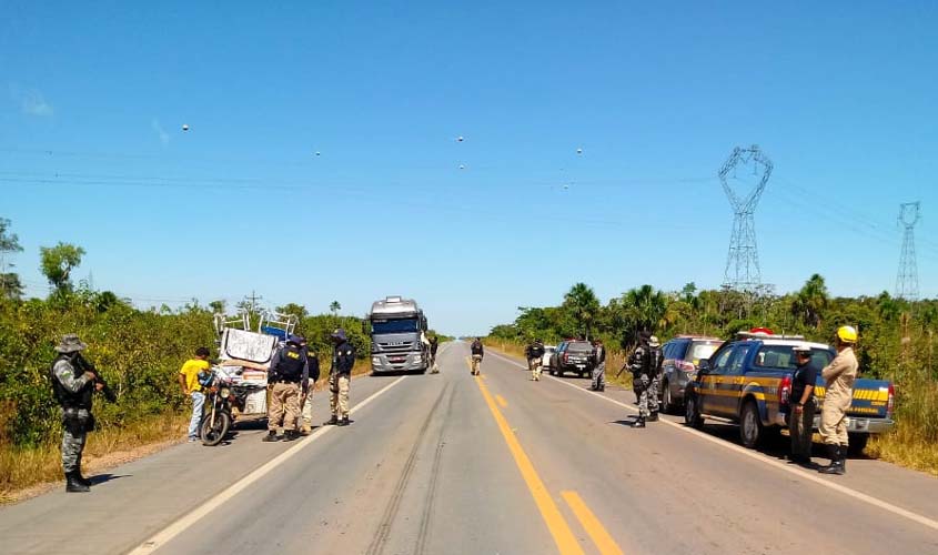
<path fill-rule="evenodd" d="M 61 422 L 52 398 L 49 367 L 61 335 L 78 333 L 85 352 L 117 393 L 110 404 L 95 395 L 97 430 L 89 434 L 87 466 L 115 452 L 179 441 L 185 435 L 189 400 L 176 381 L 182 363 L 198 346 L 215 347 L 214 312 L 223 302 L 191 303 L 140 310 L 109 291 L 73 284 L 72 271 L 84 250 L 68 243 L 42 248 L 41 269 L 49 280 L 47 299 L 23 299 L 9 256 L 22 249 L 10 221 L 0 219 L 0 503 L 12 492 L 61 480 Z M 242 304 L 233 307 L 248 309 Z M 325 383 L 331 363 L 330 333 L 344 327 L 359 361 L 353 373 L 370 371 L 369 341 L 362 320 L 341 316 L 337 302 L 330 313 L 311 315 L 299 304 L 278 307 L 300 317 L 296 332 L 305 335 L 320 356 Z M 256 314 L 252 314 L 256 321 Z M 213 355 L 218 352 L 213 351 Z M 105 461 L 107 462 L 107 461 Z M 117 461 L 120 462 L 120 461 Z"/>

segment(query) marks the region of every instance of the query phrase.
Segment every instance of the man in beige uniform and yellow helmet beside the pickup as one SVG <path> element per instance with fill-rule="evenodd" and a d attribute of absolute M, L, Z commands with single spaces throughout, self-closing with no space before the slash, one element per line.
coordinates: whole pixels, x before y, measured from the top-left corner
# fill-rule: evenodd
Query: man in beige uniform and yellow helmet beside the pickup
<path fill-rule="evenodd" d="M 827 448 L 830 464 L 823 466 L 823 474 L 847 473 L 847 410 L 854 398 L 854 381 L 859 363 L 854 353 L 857 330 L 845 325 L 837 330 L 837 356 L 820 371 L 825 381 L 824 403 L 820 407 L 820 437 Z"/>

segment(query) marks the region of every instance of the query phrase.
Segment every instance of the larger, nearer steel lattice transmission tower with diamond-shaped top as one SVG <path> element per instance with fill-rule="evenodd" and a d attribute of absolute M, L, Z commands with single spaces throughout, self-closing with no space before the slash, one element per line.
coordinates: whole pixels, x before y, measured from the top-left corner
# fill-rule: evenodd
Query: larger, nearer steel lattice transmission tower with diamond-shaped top
<path fill-rule="evenodd" d="M 734 179 L 739 168 L 748 167 L 752 167 L 753 175 L 758 179 L 758 183 L 748 194 L 740 196 L 727 180 Z M 733 149 L 729 158 L 719 169 L 723 191 L 733 206 L 733 235 L 729 240 L 729 255 L 726 259 L 723 281 L 726 287 L 754 292 L 762 284 L 754 214 L 768 178 L 771 175 L 771 160 L 763 154 L 758 145 L 753 144 L 745 149 L 742 147 Z"/>

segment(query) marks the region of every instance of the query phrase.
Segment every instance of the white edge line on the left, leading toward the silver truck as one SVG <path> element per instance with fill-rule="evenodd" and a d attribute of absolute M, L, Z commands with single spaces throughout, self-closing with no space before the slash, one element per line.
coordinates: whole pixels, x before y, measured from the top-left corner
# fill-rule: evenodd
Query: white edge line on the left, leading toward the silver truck
<path fill-rule="evenodd" d="M 401 376 L 397 380 L 394 380 L 390 384 L 385 385 L 377 392 L 373 393 L 370 397 L 365 398 L 361 403 L 353 406 L 349 412 L 350 414 L 354 414 L 360 408 L 364 408 L 369 403 L 377 398 L 381 394 L 390 390 L 391 387 L 401 383 L 407 376 Z M 319 428 L 316 432 L 311 434 L 309 437 L 301 440 L 296 445 L 293 445 L 289 450 L 284 451 L 280 455 L 268 461 L 263 466 L 254 470 L 243 478 L 239 480 L 234 484 L 228 486 L 226 490 L 219 493 L 211 500 L 206 501 L 202 505 L 198 506 L 196 508 L 192 509 L 188 514 L 183 515 L 181 518 L 176 519 L 162 531 L 158 532 L 145 542 L 140 544 L 139 546 L 134 547 L 133 551 L 130 552 L 129 555 L 142 555 L 142 554 L 150 554 L 155 552 L 157 549 L 161 548 L 163 545 L 168 544 L 172 538 L 185 532 L 186 528 L 199 522 L 200 518 L 208 515 L 212 511 L 219 508 L 229 500 L 244 491 L 248 486 L 258 482 L 265 475 L 268 475 L 272 470 L 276 468 L 281 464 L 285 463 L 288 460 L 292 458 L 294 455 L 300 453 L 301 450 L 309 447 L 314 441 L 321 438 L 323 435 L 327 434 L 330 431 L 334 430 L 335 426 L 325 426 Z"/>

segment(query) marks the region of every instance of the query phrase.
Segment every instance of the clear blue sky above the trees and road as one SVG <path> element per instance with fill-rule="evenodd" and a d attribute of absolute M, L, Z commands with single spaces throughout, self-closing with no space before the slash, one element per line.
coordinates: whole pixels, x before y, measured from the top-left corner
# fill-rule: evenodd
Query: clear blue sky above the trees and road
<path fill-rule="evenodd" d="M 935 2 L 0 12 L 0 216 L 31 294 L 58 241 L 142 306 L 255 290 L 363 314 L 404 294 L 451 333 L 577 281 L 603 302 L 715 287 L 716 172 L 752 143 L 775 162 L 765 282 L 892 291 L 898 204 L 920 200 L 920 289 L 938 294 Z"/>

